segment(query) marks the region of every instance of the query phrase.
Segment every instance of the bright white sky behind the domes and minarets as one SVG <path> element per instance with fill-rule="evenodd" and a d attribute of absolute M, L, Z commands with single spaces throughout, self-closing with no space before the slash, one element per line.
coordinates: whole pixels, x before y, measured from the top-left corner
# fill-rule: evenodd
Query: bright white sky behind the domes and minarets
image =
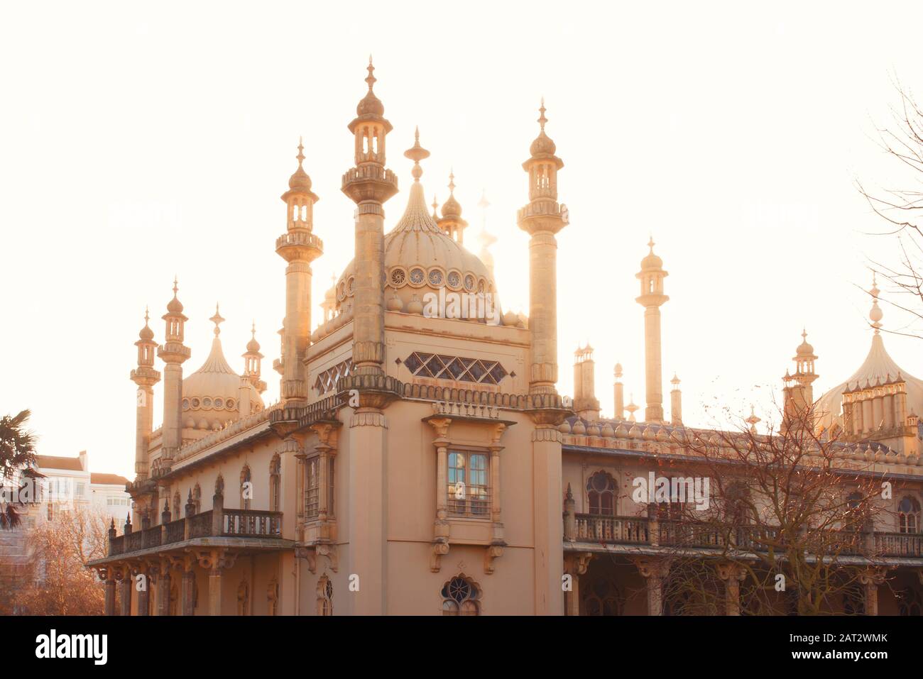
<path fill-rule="evenodd" d="M 676 371 L 688 423 L 709 423 L 710 403 L 747 414 L 755 401 L 759 414 L 769 394 L 752 387 L 780 386 L 802 325 L 818 395 L 868 351 L 856 285 L 868 287 L 869 257 L 896 250 L 867 235 L 881 222 L 853 181 L 900 184 L 869 137 L 896 100 L 893 73 L 923 89 L 918 3 L 19 3 L 3 15 L 0 413 L 32 409 L 43 454 L 87 449 L 94 471 L 134 476 L 133 342 L 145 304 L 162 340 L 174 273 L 191 319 L 186 374 L 220 301 L 228 360 L 241 369 L 255 318 L 264 396 L 277 398 L 279 196 L 304 135 L 326 251 L 317 302 L 352 256 L 340 181 L 369 53 L 404 189 L 387 228 L 419 125 L 427 197 L 445 199 L 454 167 L 469 243 L 486 188 L 514 309 L 528 308 L 521 161 L 545 96 L 571 220 L 558 250 L 563 393 L 590 340 L 604 414 L 616 361 L 643 405 L 634 274 L 649 233 L 670 273 L 667 410 Z M 885 306 L 886 327 L 904 322 Z M 923 375 L 917 342 L 886 338 Z"/>

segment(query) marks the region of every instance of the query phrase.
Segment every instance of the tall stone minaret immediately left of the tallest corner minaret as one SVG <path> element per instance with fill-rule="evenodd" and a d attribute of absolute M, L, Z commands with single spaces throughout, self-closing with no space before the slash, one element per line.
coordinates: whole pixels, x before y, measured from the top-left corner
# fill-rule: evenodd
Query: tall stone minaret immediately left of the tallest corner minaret
<path fill-rule="evenodd" d="M 324 252 L 314 229 L 311 178 L 305 172 L 305 147 L 298 140 L 298 169 L 289 178 L 289 190 L 282 194 L 287 208 L 286 231 L 276 239 L 276 254 L 285 268 L 285 321 L 282 333 L 282 403 L 288 407 L 307 404 L 305 354 L 311 334 L 311 262 Z"/>

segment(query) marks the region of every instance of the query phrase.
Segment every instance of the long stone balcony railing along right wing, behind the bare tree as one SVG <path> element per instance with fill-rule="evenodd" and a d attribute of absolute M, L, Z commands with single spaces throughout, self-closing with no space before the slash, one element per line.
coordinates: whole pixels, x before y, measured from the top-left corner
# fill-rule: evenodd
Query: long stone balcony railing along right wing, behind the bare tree
<path fill-rule="evenodd" d="M 641 517 L 574 514 L 573 540 L 607 544 L 650 544 L 665 547 L 734 547 L 754 552 L 785 550 L 785 538 L 773 526 L 728 527 L 675 519 L 652 521 Z M 656 525 L 654 531 L 653 526 Z M 805 541 L 823 554 L 875 554 L 923 557 L 923 533 L 867 533 L 829 530 Z M 568 536 L 565 535 L 565 539 Z M 810 542 L 816 542 L 813 546 Z"/>

